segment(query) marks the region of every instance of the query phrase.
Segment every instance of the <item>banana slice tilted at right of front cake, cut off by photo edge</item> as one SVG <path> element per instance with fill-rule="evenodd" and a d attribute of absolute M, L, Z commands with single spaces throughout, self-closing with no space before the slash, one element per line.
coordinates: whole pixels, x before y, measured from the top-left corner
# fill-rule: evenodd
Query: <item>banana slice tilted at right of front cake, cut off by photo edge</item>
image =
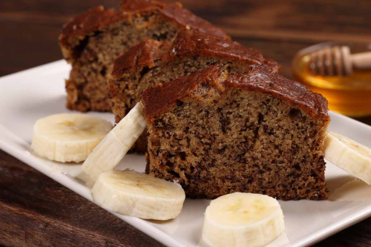
<path fill-rule="evenodd" d="M 335 132 L 327 133 L 325 158 L 371 185 L 371 149 Z"/>

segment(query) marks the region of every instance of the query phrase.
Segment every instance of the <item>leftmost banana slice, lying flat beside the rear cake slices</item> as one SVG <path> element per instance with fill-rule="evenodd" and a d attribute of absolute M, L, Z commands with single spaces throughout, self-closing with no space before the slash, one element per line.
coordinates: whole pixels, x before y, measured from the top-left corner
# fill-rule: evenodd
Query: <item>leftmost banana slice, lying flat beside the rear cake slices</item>
<path fill-rule="evenodd" d="M 81 113 L 54 114 L 36 121 L 31 148 L 40 156 L 60 162 L 80 162 L 112 129 L 99 117 Z"/>

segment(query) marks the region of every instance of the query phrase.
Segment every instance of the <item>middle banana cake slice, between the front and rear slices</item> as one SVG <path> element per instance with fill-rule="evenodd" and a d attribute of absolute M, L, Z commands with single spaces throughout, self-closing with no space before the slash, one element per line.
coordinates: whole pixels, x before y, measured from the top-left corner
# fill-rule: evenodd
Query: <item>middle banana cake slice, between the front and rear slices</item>
<path fill-rule="evenodd" d="M 114 62 L 108 91 L 116 123 L 141 100 L 143 90 L 210 64 L 222 64 L 231 74 L 244 71 L 250 64 L 264 64 L 275 70 L 279 67 L 259 51 L 193 30 L 180 31 L 172 44 L 146 39 Z M 135 144 L 135 149 L 139 152 L 147 150 L 146 132 Z"/>

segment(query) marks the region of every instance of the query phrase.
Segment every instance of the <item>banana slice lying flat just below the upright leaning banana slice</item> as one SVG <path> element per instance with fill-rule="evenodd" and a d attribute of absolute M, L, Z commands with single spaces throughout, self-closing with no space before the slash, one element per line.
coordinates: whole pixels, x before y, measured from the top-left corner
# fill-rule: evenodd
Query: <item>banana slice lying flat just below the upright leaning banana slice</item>
<path fill-rule="evenodd" d="M 91 193 L 93 201 L 107 210 L 154 220 L 177 217 L 185 199 L 180 184 L 133 170 L 102 173 Z"/>

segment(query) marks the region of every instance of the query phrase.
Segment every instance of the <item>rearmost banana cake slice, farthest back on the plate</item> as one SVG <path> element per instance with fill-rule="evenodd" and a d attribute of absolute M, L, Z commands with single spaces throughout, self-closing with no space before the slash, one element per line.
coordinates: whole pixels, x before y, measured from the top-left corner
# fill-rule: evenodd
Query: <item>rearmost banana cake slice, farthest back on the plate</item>
<path fill-rule="evenodd" d="M 171 43 L 182 29 L 229 39 L 221 29 L 179 3 L 123 0 L 121 11 L 99 6 L 66 23 L 59 43 L 63 56 L 72 64 L 66 80 L 67 107 L 110 111 L 106 83 L 114 59 L 144 38 Z"/>

